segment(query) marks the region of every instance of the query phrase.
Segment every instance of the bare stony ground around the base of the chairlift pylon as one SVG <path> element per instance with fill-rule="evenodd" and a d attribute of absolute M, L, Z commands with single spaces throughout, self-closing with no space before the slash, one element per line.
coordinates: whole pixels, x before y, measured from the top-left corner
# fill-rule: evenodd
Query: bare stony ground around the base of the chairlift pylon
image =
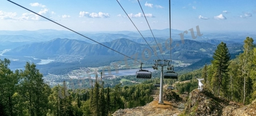
<path fill-rule="evenodd" d="M 159 93 L 159 90 L 157 91 L 153 92 Z M 170 96 L 170 94 L 172 94 L 172 96 Z M 112 115 L 178 115 L 184 109 L 184 102 L 182 102 L 182 98 L 178 97 L 175 92 L 164 92 L 164 104 L 158 104 L 159 94 L 153 96 L 154 100 L 144 106 L 119 109 Z M 177 98 L 177 100 L 174 100 L 174 98 Z"/>

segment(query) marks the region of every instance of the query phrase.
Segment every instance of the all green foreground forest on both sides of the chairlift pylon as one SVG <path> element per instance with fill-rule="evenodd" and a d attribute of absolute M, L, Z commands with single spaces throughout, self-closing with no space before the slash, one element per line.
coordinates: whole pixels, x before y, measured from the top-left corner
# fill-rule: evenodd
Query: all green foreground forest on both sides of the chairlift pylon
<path fill-rule="evenodd" d="M 249 104 L 256 98 L 256 47 L 246 37 L 243 52 L 230 60 L 224 42 L 217 45 L 211 64 L 202 69 L 180 74 L 175 88 L 179 94 L 197 88 L 194 78 L 203 78 L 203 87 L 227 100 Z M 92 81 L 90 88 L 68 89 L 67 83 L 52 88 L 43 82 L 34 63 L 27 62 L 24 70 L 11 71 L 10 60 L 0 60 L 0 115 L 108 115 L 119 108 L 143 106 L 153 100 L 153 83 L 104 87 L 104 81 Z M 153 73 L 154 77 L 157 73 Z M 123 77 L 132 80 L 130 76 Z M 175 80 L 164 79 L 164 84 Z"/>

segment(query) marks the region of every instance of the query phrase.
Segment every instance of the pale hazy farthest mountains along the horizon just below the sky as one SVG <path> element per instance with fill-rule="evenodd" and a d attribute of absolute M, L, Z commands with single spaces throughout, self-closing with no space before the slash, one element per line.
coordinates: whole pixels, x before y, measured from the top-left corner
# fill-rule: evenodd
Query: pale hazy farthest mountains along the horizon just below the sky
<path fill-rule="evenodd" d="M 190 31 L 189 30 L 187 31 L 188 31 L 187 34 L 184 33 L 184 39 L 192 39 Z M 182 32 L 183 30 L 171 29 L 171 38 L 181 39 L 179 34 Z M 152 33 L 151 33 L 151 30 L 140 30 L 140 33 L 142 36 L 138 31 L 99 31 L 99 32 L 79 31 L 79 33 L 93 40 L 96 40 L 98 42 L 109 42 L 119 38 L 127 38 L 130 40 L 136 41 L 138 43 L 145 44 L 145 41 L 143 41 L 142 36 L 144 38 L 152 38 L 153 37 L 152 33 L 155 39 L 158 39 L 156 40 L 157 42 L 161 42 L 169 38 L 169 28 L 152 29 Z M 228 43 L 234 43 L 234 42 L 243 43 L 243 40 L 245 39 L 246 36 L 256 37 L 256 34 L 253 34 L 253 33 L 249 34 L 246 32 L 209 33 L 209 32 L 201 31 L 201 33 L 202 33 L 202 36 L 196 36 L 196 32 L 194 31 L 196 38 L 192 40 L 209 42 L 211 44 L 217 44 L 219 41 L 223 41 L 228 44 Z M 5 42 L 5 41 L 40 42 L 40 41 L 49 41 L 54 38 L 70 38 L 70 39 L 83 40 L 89 43 L 95 43 L 94 41 L 84 38 L 79 34 L 76 34 L 72 31 L 66 31 L 66 30 L 54 30 L 54 29 L 39 29 L 39 30 L 33 30 L 33 31 L 0 30 L 0 41 L 2 42 Z M 148 43 L 154 44 L 154 40 L 148 40 Z M 7 47 L 5 48 L 8 49 Z"/>

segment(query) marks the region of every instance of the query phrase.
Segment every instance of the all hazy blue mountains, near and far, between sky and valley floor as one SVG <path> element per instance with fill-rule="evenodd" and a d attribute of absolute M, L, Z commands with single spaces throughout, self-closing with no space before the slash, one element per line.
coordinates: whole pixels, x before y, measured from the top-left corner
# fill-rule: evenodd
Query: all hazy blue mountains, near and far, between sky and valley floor
<path fill-rule="evenodd" d="M 81 32 L 83 35 L 104 44 L 116 51 L 119 51 L 125 55 L 134 57 L 137 54 L 137 58 L 143 60 L 147 58 L 157 58 L 154 55 L 154 51 L 161 57 L 160 51 L 163 56 L 168 59 L 170 54 L 169 46 L 169 29 L 152 30 L 155 36 L 155 40 L 158 43 L 160 49 L 158 49 L 154 38 L 151 35 L 150 30 L 138 32 L 132 31 L 117 31 L 117 32 Z M 242 42 L 248 33 L 237 33 L 236 36 L 228 33 L 206 33 L 201 32 L 202 36 L 197 36 L 192 39 L 190 32 L 184 34 L 184 41 L 180 39 L 179 33 L 181 30 L 172 29 L 172 59 L 180 60 L 184 63 L 196 63 L 193 65 L 203 65 L 205 62 L 209 63 L 209 59 L 214 52 L 216 45 L 221 41 L 227 44 L 230 54 L 235 56 L 242 51 Z M 194 32 L 196 34 L 196 32 Z M 232 38 L 233 37 L 233 38 Z M 147 45 L 152 47 L 153 50 Z M 82 60 L 76 63 L 86 63 L 86 60 L 93 59 L 97 56 L 107 56 L 108 59 L 122 60 L 123 56 L 119 53 L 110 50 L 98 43 L 93 42 L 87 38 L 84 38 L 76 33 L 64 30 L 52 30 L 42 29 L 35 31 L 5 31 L 0 30 L 0 50 L 10 49 L 7 52 L 2 53 L 1 58 L 10 58 L 13 68 L 22 68 L 21 62 L 32 61 L 38 63 L 40 59 L 50 59 L 59 55 L 78 56 Z M 9 55 L 9 56 L 4 56 Z M 24 57 L 24 56 L 29 56 Z M 33 56 L 34 58 L 31 58 Z M 110 58 L 110 57 L 114 58 Z M 85 58 L 86 57 L 86 58 Z M 100 62 L 108 62 L 107 59 L 101 58 Z M 199 62 L 198 62 L 199 61 Z M 54 62 L 47 64 L 53 66 Z M 55 61 L 56 63 L 56 61 Z M 63 64 L 64 62 L 62 62 Z M 75 66 L 74 61 L 74 66 Z M 108 62 L 110 63 L 110 62 Z M 52 65 L 50 65 L 52 64 Z M 59 65 L 62 65 L 59 64 Z M 22 65 L 22 66 L 21 66 Z M 87 65 L 90 66 L 90 65 Z M 197 65 L 198 66 L 198 65 Z"/>

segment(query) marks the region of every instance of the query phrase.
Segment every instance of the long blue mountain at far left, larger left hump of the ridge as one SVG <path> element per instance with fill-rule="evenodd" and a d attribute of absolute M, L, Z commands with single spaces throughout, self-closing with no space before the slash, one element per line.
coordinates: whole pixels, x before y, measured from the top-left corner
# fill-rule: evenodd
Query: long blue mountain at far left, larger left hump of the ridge
<path fill-rule="evenodd" d="M 72 52 L 85 47 L 90 43 L 74 40 L 74 39 L 60 39 L 55 38 L 53 40 L 49 40 L 46 42 L 36 42 L 31 44 L 22 45 L 12 49 L 10 52 L 6 52 L 6 54 L 11 55 L 54 55 L 54 54 L 71 54 Z"/>

